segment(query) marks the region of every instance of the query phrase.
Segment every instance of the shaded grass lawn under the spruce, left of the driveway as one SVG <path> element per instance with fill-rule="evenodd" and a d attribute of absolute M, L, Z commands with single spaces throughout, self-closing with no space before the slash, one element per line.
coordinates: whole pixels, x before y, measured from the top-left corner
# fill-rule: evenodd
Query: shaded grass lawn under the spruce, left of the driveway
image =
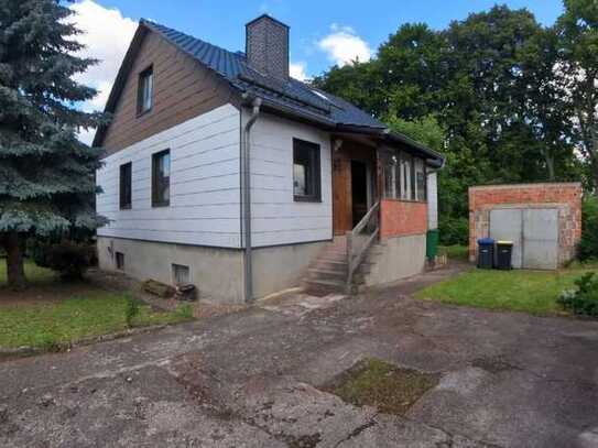
<path fill-rule="evenodd" d="M 174 324 L 193 317 L 188 305 L 171 313 L 154 312 L 124 293 L 109 293 L 85 283 L 63 284 L 52 271 L 29 262 L 25 264 L 25 274 L 31 287 L 18 293 L 22 295 L 20 298 L 17 293 L 9 293 L 6 288 L 7 294 L 3 294 L 6 273 L 3 269 L 0 272 L 2 348 L 33 346 L 56 349 L 85 337 L 107 335 L 130 327 Z M 39 299 L 47 289 L 52 291 L 52 297 Z M 56 295 L 61 291 L 64 296 L 57 299 Z M 3 301 L 9 294 L 10 299 Z M 134 313 L 131 313 L 131 303 L 137 305 L 133 306 Z M 131 316 L 129 321 L 128 314 Z"/>

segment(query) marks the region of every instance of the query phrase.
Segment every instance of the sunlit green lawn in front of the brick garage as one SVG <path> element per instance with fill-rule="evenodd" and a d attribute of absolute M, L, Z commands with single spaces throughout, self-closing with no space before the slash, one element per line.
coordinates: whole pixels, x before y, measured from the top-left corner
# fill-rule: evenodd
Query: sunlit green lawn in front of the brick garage
<path fill-rule="evenodd" d="M 428 286 L 415 297 L 480 308 L 564 314 L 556 298 L 585 272 L 596 266 L 575 266 L 557 272 L 474 270 Z"/>

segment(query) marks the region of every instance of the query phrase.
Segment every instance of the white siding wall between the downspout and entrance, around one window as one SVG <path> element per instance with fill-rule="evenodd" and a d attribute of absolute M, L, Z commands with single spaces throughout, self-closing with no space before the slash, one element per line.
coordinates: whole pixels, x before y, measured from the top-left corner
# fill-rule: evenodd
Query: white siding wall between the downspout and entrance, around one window
<path fill-rule="evenodd" d="M 293 199 L 293 138 L 320 146 L 322 203 Z M 330 135 L 262 113 L 251 131 L 252 245 L 333 238 Z"/>

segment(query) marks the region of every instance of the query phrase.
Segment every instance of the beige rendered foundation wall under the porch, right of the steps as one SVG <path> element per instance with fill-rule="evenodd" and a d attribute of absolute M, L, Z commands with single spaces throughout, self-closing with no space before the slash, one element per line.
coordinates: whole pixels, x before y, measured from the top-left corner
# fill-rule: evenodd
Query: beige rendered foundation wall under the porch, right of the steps
<path fill-rule="evenodd" d="M 379 286 L 420 274 L 425 267 L 426 236 L 390 237 L 371 249 L 366 286 Z"/>

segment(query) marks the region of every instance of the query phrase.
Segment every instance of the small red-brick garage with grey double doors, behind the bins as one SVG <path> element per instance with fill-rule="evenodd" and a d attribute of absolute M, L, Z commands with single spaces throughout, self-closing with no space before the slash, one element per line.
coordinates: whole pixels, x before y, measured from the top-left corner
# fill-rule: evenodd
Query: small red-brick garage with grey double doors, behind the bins
<path fill-rule="evenodd" d="M 477 258 L 477 240 L 485 237 L 513 242 L 515 269 L 558 269 L 575 258 L 581 238 L 581 185 L 470 187 L 470 261 Z"/>

